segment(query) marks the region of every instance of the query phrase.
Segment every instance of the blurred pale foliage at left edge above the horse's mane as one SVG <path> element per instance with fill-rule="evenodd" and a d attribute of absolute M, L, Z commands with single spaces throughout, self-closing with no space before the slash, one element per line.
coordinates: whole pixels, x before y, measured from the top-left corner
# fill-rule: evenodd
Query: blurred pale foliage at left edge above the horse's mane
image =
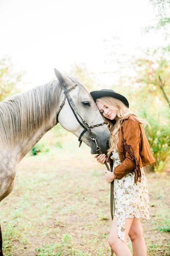
<path fill-rule="evenodd" d="M 16 84 L 21 81 L 23 74 L 14 73 L 9 58 L 0 60 L 0 102 L 6 97 L 18 93 Z"/>

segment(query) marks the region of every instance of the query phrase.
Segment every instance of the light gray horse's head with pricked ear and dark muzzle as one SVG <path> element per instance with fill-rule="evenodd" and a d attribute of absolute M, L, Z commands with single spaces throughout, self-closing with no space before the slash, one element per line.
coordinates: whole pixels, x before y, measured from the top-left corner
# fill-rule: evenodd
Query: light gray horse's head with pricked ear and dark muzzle
<path fill-rule="evenodd" d="M 65 130 L 70 131 L 77 137 L 79 137 L 85 127 L 87 127 L 85 122 L 89 127 L 97 125 L 91 128 L 91 131 L 96 132 L 97 144 L 101 148 L 102 153 L 106 154 L 110 131 L 106 127 L 106 124 L 103 125 L 104 120 L 90 93 L 88 93 L 85 86 L 78 79 L 64 76 L 56 69 L 54 69 L 54 71 L 63 88 L 63 94 L 60 97 L 60 105 L 65 99 L 65 103 L 58 115 L 58 122 Z M 67 91 L 64 93 L 64 90 L 67 90 L 68 93 Z M 68 99 L 65 98 L 65 96 L 67 96 Z M 101 125 L 98 126 L 98 124 Z M 93 132 L 90 135 L 92 138 L 95 137 L 95 133 Z M 95 141 L 91 140 L 89 137 L 89 131 L 85 131 L 81 140 L 91 148 L 91 154 L 98 153 L 96 151 Z"/>

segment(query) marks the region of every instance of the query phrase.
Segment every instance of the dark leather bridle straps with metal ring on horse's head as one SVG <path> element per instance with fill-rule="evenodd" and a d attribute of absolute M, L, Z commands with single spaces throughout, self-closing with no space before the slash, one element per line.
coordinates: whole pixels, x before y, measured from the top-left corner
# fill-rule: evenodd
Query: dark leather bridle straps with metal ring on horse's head
<path fill-rule="evenodd" d="M 94 127 L 99 127 L 99 126 L 101 126 L 101 125 L 104 125 L 105 122 L 102 122 L 101 124 L 89 126 L 88 123 L 82 118 L 82 116 L 80 115 L 80 113 L 79 113 L 79 111 L 78 111 L 76 105 L 74 104 L 74 102 L 73 102 L 73 100 L 72 100 L 72 98 L 71 98 L 71 96 L 70 96 L 70 94 L 69 94 L 69 92 L 70 92 L 71 90 L 75 89 L 76 86 L 77 86 L 77 84 L 75 84 L 72 88 L 70 88 L 70 89 L 68 89 L 68 90 L 67 90 L 67 88 L 64 86 L 64 94 L 65 94 L 65 96 L 64 96 L 64 100 L 62 101 L 62 104 L 61 104 L 60 107 L 59 107 L 59 110 L 57 111 L 57 114 L 56 114 L 56 122 L 59 123 L 59 121 L 58 121 L 59 112 L 62 110 L 62 107 L 64 106 L 65 100 L 66 100 L 66 98 L 67 98 L 68 104 L 69 104 L 71 110 L 73 111 L 74 116 L 76 117 L 76 119 L 77 119 L 77 121 L 79 122 L 79 124 L 84 128 L 84 130 L 82 131 L 82 133 L 81 133 L 80 136 L 79 136 L 79 142 L 80 142 L 80 143 L 79 143 L 79 147 L 82 145 L 82 140 L 81 140 L 82 135 L 85 134 L 86 131 L 88 131 L 88 137 L 89 137 L 92 141 L 94 141 L 94 142 L 96 143 L 96 151 L 100 151 L 101 148 L 100 148 L 100 147 L 98 146 L 98 144 L 97 144 L 97 137 L 98 137 L 98 136 L 97 136 L 97 133 L 96 133 L 95 131 L 91 131 L 91 129 L 94 128 Z M 79 118 L 81 119 L 82 122 L 80 122 L 78 116 L 79 116 Z"/>

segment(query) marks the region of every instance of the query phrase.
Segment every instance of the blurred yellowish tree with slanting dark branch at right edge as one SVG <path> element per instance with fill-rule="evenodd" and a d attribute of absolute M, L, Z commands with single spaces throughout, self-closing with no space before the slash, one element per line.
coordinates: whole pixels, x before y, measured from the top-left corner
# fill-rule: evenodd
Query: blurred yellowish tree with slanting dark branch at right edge
<path fill-rule="evenodd" d="M 170 61 L 161 48 L 147 49 L 146 57 L 134 59 L 135 82 L 170 107 Z M 145 88 L 144 88 L 145 87 Z"/>

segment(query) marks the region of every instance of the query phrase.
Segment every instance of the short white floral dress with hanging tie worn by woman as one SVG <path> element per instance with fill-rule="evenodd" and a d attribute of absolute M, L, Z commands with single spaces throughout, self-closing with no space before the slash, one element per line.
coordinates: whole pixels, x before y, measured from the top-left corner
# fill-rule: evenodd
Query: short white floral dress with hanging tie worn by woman
<path fill-rule="evenodd" d="M 120 164 L 118 151 L 111 156 L 114 168 Z M 141 182 L 135 184 L 135 172 L 129 172 L 118 180 L 114 179 L 114 201 L 117 216 L 118 237 L 125 241 L 125 218 L 149 218 L 149 196 L 146 177 L 141 168 Z"/>

